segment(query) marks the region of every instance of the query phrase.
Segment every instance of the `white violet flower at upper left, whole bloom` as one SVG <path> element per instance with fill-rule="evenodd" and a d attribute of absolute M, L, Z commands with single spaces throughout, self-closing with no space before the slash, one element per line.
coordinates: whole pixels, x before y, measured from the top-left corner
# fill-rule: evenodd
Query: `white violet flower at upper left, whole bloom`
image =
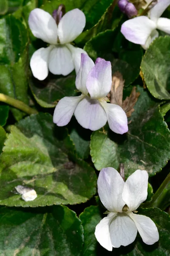
<path fill-rule="evenodd" d="M 79 71 L 83 49 L 70 43 L 80 35 L 85 27 L 85 15 L 73 9 L 60 17 L 59 24 L 42 9 L 31 11 L 28 23 L 33 35 L 50 44 L 40 48 L 31 57 L 30 66 L 34 77 L 44 80 L 48 69 L 54 75 L 67 76 L 74 69 Z"/>

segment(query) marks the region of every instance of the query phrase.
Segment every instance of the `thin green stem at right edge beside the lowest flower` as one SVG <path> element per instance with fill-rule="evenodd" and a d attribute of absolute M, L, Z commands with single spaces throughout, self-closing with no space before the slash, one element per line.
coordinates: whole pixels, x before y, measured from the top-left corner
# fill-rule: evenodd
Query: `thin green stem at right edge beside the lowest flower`
<path fill-rule="evenodd" d="M 159 198 L 159 196 L 161 195 L 161 193 L 164 191 L 165 187 L 167 186 L 167 184 L 170 182 L 170 173 L 167 175 L 167 177 L 164 179 L 164 181 L 161 183 L 161 186 L 159 187 L 159 189 L 157 189 L 157 191 L 155 192 L 155 194 L 153 195 L 152 201 L 144 203 L 142 205 L 142 207 L 158 207 L 156 200 Z"/>

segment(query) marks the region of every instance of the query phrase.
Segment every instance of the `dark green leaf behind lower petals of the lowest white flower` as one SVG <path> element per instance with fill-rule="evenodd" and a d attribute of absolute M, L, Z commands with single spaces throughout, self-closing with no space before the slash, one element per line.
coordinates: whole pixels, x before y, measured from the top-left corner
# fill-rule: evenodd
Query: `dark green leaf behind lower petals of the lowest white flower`
<path fill-rule="evenodd" d="M 94 232 L 99 221 L 106 217 L 100 214 L 100 209 L 91 206 L 81 213 L 80 219 L 84 228 L 84 248 L 83 256 L 111 256 L 111 255 L 127 255 L 127 256 L 164 256 L 170 254 L 169 247 L 169 230 L 170 216 L 166 212 L 162 212 L 158 208 L 139 209 L 138 214 L 146 215 L 151 218 L 159 231 L 159 242 L 153 245 L 147 245 L 142 242 L 141 237 L 137 236 L 136 240 L 128 245 L 120 248 L 113 248 L 112 252 L 105 250 L 97 242 Z"/>

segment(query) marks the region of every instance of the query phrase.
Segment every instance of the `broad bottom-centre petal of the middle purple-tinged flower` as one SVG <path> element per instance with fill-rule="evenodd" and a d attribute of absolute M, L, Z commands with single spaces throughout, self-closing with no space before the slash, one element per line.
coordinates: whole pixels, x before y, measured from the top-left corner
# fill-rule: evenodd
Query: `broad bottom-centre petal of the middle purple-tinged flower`
<path fill-rule="evenodd" d="M 74 112 L 74 115 L 82 127 L 92 131 L 99 130 L 107 122 L 107 116 L 98 100 L 85 97 Z"/>

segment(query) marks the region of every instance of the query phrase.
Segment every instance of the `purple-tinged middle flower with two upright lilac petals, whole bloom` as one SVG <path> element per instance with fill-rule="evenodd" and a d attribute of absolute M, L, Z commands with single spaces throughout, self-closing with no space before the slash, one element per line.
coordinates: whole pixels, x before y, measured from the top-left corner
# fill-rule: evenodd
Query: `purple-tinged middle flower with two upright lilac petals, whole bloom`
<path fill-rule="evenodd" d="M 76 77 L 77 90 L 82 94 L 62 98 L 55 108 L 53 122 L 58 126 L 67 125 L 74 114 L 84 128 L 96 131 L 108 121 L 112 131 L 124 134 L 128 131 L 125 111 L 105 100 L 111 84 L 111 62 L 97 58 L 94 64 L 88 55 L 82 53 L 81 66 Z"/>

